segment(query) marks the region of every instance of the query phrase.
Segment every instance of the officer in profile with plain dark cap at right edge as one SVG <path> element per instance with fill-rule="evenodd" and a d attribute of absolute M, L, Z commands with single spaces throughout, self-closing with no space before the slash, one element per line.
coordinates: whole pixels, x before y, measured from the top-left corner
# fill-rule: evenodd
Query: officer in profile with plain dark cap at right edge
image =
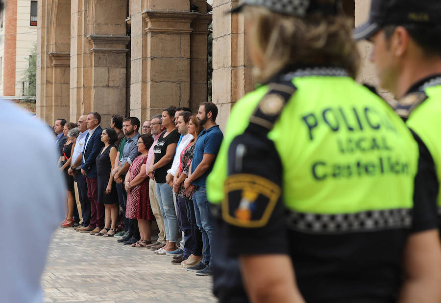
<path fill-rule="evenodd" d="M 425 194 L 441 214 L 441 1 L 373 1 L 354 38 L 373 43 L 380 86 L 395 95 L 394 108 L 414 133 L 428 169 Z"/>

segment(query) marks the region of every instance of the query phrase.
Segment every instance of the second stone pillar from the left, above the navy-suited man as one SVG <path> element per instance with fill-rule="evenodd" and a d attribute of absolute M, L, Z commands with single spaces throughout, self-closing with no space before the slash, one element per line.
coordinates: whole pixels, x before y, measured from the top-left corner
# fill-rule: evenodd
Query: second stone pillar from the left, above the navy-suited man
<path fill-rule="evenodd" d="M 107 127 L 112 115 L 125 115 L 127 1 L 73 2 L 71 119 L 98 111 Z"/>

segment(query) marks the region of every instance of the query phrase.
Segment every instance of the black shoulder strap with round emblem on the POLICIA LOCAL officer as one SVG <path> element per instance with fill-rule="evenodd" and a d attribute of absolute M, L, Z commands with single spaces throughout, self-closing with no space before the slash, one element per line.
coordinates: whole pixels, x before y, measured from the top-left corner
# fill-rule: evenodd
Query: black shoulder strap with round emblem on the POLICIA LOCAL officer
<path fill-rule="evenodd" d="M 267 133 L 272 130 L 283 108 L 297 90 L 291 81 L 270 83 L 268 86 L 270 91 L 262 98 L 250 117 L 250 126 L 257 125 Z"/>

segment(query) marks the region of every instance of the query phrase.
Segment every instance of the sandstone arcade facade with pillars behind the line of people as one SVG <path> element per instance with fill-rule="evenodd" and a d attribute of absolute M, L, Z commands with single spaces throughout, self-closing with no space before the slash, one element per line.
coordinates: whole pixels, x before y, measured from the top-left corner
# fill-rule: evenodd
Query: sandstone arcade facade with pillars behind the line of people
<path fill-rule="evenodd" d="M 223 126 L 254 87 L 239 0 L 39 0 L 37 115 L 52 124 L 98 111 L 146 120 L 170 105 L 207 101 L 208 25 L 213 20 L 212 100 Z M 343 0 L 354 24 L 370 0 Z M 369 46 L 361 81 L 372 83 Z"/>

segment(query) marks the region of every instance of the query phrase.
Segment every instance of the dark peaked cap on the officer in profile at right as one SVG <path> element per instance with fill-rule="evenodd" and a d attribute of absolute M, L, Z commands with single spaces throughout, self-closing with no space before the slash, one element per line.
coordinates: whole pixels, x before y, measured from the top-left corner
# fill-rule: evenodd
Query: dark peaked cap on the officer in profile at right
<path fill-rule="evenodd" d="M 441 25 L 441 0 L 372 0 L 368 22 L 355 28 L 355 40 L 370 38 L 385 25 Z"/>

